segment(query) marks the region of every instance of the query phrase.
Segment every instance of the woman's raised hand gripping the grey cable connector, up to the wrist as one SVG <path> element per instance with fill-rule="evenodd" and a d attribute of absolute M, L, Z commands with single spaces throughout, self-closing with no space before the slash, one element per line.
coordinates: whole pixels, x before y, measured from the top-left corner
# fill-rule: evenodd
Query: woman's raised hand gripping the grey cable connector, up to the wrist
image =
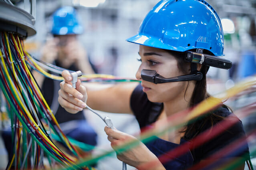
<path fill-rule="evenodd" d="M 87 105 L 87 92 L 85 86 L 81 85 L 78 79 L 76 89 L 72 87 L 72 77 L 69 71 L 64 70 L 61 73 L 64 81 L 60 83 L 58 91 L 58 103 L 69 113 L 82 111 Z"/>

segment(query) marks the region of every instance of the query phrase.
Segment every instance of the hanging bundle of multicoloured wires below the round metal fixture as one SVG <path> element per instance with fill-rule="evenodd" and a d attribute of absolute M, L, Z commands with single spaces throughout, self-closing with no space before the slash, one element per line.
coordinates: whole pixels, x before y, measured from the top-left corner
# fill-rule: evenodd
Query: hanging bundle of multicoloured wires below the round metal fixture
<path fill-rule="evenodd" d="M 44 100 L 26 65 L 19 37 L 6 32 L 0 32 L 0 36 L 0 88 L 8 103 L 12 127 L 12 159 L 6 169 L 47 168 L 44 156 L 50 166 L 72 165 L 78 169 L 75 162 L 80 155 Z M 69 154 L 56 146 L 52 133 L 58 136 Z"/>

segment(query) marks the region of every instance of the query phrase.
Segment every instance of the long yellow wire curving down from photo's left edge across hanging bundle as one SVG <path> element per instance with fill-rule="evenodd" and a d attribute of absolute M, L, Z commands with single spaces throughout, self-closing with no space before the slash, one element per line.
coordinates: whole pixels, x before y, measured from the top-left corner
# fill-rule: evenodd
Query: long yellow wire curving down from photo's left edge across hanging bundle
<path fill-rule="evenodd" d="M 10 75 L 9 75 L 9 73 L 8 73 L 8 69 L 7 69 L 6 65 L 5 65 L 5 62 L 4 62 L 4 59 L 3 59 L 3 55 L 2 55 L 2 51 L 1 51 L 1 50 L 0 50 L 0 57 L 1 57 L 1 60 L 2 60 L 3 66 L 4 66 L 4 71 L 6 72 L 7 78 L 8 78 L 8 80 L 9 80 L 9 82 L 10 82 L 10 85 L 11 85 L 11 87 L 12 87 L 12 89 L 13 89 L 13 91 L 14 91 L 16 97 L 17 97 L 17 99 L 18 99 L 18 102 L 20 103 L 20 105 L 22 106 L 22 108 L 23 108 L 23 110 L 25 111 L 26 115 L 30 118 L 30 120 L 32 121 L 32 123 L 34 124 L 34 126 L 35 126 L 35 127 L 39 130 L 39 132 L 42 134 L 42 136 L 43 136 L 50 144 L 54 145 L 54 144 L 47 138 L 47 136 L 44 134 L 44 132 L 41 130 L 41 128 L 38 127 L 38 125 L 36 124 L 36 122 L 34 121 L 34 119 L 32 118 L 32 116 L 30 115 L 30 113 L 29 113 L 29 111 L 27 110 L 27 108 L 23 105 L 23 103 L 22 103 L 22 101 L 21 101 L 19 95 L 16 93 L 15 87 L 14 87 L 14 85 L 12 84 L 12 80 L 11 80 Z M 14 71 L 14 75 L 16 76 L 16 72 L 15 72 L 15 71 Z M 54 146 L 55 146 L 55 145 L 54 145 Z M 59 154 L 60 150 L 58 150 L 58 148 L 57 148 L 58 152 L 57 152 L 57 150 L 55 150 L 54 148 L 52 148 L 52 149 L 53 149 L 59 156 L 61 156 L 61 155 Z M 67 163 L 67 164 L 68 164 L 68 163 Z"/>

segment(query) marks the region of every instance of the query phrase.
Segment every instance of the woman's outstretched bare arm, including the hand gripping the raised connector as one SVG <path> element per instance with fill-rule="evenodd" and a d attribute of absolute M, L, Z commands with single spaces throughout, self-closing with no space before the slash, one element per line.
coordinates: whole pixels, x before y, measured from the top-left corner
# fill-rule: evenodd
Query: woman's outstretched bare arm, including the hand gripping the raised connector
<path fill-rule="evenodd" d="M 87 89 L 78 80 L 77 88 L 74 89 L 69 71 L 63 71 L 62 77 L 65 80 L 60 83 L 58 102 L 66 111 L 77 113 L 88 104 L 92 109 L 96 110 L 111 113 L 131 113 L 130 97 L 137 83 L 120 83 L 103 89 L 90 88 L 86 85 L 88 86 Z M 87 96 L 89 96 L 88 102 Z"/>

